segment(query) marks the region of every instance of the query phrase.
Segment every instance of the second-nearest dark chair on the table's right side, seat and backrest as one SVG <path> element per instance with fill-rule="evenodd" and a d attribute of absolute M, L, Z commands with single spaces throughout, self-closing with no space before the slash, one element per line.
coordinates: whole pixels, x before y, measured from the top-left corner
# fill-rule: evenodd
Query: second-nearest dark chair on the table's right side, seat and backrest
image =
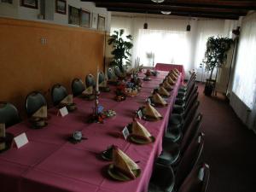
<path fill-rule="evenodd" d="M 204 144 L 203 134 L 195 137 L 186 149 L 182 160 L 173 172 L 172 166 L 156 163 L 148 185 L 148 192 L 172 192 L 177 191 L 193 170 L 201 157 Z"/>

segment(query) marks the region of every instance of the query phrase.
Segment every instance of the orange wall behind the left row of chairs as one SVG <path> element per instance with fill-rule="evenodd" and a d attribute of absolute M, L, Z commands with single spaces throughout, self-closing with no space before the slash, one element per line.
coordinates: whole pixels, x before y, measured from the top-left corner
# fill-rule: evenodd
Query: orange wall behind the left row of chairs
<path fill-rule="evenodd" d="M 0 18 L 0 44 L 0 101 L 14 103 L 22 116 L 32 90 L 42 91 L 50 104 L 53 84 L 70 91 L 74 78 L 96 74 L 97 65 L 103 69 L 103 32 Z"/>

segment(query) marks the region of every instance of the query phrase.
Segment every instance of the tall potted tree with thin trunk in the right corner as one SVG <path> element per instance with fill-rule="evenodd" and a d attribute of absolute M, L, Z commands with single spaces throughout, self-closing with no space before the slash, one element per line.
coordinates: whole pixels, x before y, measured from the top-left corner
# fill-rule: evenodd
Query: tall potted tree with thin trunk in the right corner
<path fill-rule="evenodd" d="M 205 58 L 201 63 L 205 65 L 206 71 L 210 72 L 210 77 L 207 79 L 204 93 L 206 96 L 212 96 L 212 91 L 215 87 L 216 79 L 212 79 L 212 73 L 215 67 L 223 67 L 227 60 L 227 52 L 233 40 L 231 38 L 209 37 L 207 40 L 207 50 Z"/>

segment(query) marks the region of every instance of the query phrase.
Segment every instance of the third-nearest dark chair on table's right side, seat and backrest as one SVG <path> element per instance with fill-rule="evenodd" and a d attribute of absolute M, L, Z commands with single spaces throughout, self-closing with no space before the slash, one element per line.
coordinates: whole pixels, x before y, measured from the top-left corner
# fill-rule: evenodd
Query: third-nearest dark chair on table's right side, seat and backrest
<path fill-rule="evenodd" d="M 192 143 L 193 139 L 198 135 L 201 127 L 202 114 L 199 113 L 189 125 L 188 131 L 183 136 L 181 143 L 172 143 L 169 139 L 163 140 L 163 150 L 158 158 L 158 162 L 167 166 L 177 165 L 179 160 L 183 157 L 184 152 Z"/>

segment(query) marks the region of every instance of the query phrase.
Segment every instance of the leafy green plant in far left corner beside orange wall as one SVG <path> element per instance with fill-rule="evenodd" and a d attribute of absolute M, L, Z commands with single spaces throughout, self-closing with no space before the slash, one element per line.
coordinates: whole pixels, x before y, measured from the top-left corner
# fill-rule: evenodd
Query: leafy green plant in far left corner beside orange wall
<path fill-rule="evenodd" d="M 122 72 L 124 72 L 123 61 L 125 61 L 125 65 L 131 65 L 131 60 L 129 59 L 131 54 L 129 51 L 133 47 L 133 44 L 131 43 L 132 36 L 125 36 L 124 32 L 124 29 L 114 31 L 113 35 L 111 35 L 108 39 L 108 44 L 113 45 L 113 51 L 111 51 L 111 54 L 113 55 L 113 61 L 111 61 L 109 65 L 118 66 Z M 127 40 L 125 40 L 125 38 Z"/>

